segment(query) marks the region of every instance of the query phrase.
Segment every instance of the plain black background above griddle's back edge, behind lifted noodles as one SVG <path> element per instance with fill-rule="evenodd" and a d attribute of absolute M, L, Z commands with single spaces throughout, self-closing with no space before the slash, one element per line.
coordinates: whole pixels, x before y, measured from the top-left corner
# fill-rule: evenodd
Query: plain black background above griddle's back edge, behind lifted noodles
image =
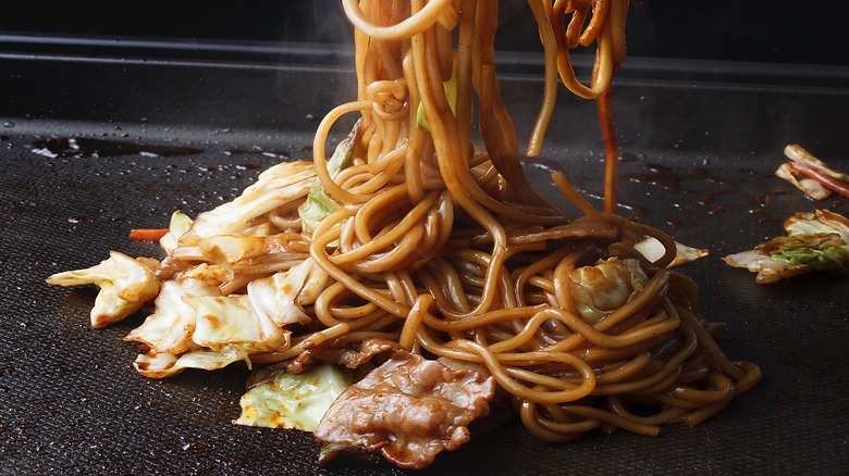
<path fill-rule="evenodd" d="M 108 5 L 108 7 L 104 7 Z M 134 3 L 15 2 L 0 33 L 85 34 L 239 41 L 345 43 L 339 0 Z M 631 57 L 800 64 L 849 64 L 847 2 L 766 0 L 633 1 Z M 539 48 L 525 0 L 501 2 L 502 50 Z"/>

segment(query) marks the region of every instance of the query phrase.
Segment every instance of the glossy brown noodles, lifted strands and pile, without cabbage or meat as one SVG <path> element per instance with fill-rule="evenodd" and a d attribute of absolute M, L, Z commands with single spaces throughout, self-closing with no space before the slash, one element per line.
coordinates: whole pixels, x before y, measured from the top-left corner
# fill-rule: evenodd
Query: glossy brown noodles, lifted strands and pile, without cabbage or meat
<path fill-rule="evenodd" d="M 485 364 L 540 438 L 568 440 L 599 427 L 655 435 L 661 424 L 701 422 L 753 386 L 760 371 L 729 361 L 713 341 L 710 326 L 698 316 L 694 285 L 665 268 L 674 241 L 614 215 L 618 146 L 611 83 L 625 59 L 628 2 L 528 3 L 546 65 L 543 107 L 528 154 L 539 152 L 557 79 L 577 96 L 598 101 L 607 159 L 604 213 L 575 193 L 564 177 L 554 179 L 588 216 L 614 224 L 619 238 L 550 240 L 538 235 L 534 241 L 522 235 L 522 229 L 569 221 L 546 208 L 521 171 L 495 79 L 496 1 L 346 0 L 356 27 L 360 98 L 329 114 L 316 136 L 318 176 L 345 209 L 316 230 L 311 256 L 348 292 L 396 317 L 391 327 L 401 329 L 404 348 L 413 349 L 415 340 L 433 355 Z M 569 49 L 593 43 L 595 66 L 583 85 Z M 443 86 L 452 63 L 456 100 Z M 371 90 L 385 91 L 394 101 L 376 100 Z M 470 137 L 472 97 L 482 149 Z M 416 125 L 419 101 L 428 130 Z M 360 136 L 369 139 L 358 145 L 362 155 L 357 166 L 380 163 L 403 179 L 384 175 L 382 188 L 360 193 L 330 178 L 323 145 L 330 124 L 346 112 L 361 112 L 360 130 L 373 129 L 378 136 Z M 389 161 L 394 165 L 383 164 Z M 374 220 L 380 213 L 392 218 Z M 432 226 L 429 217 L 453 226 Z M 340 236 L 333 230 L 350 222 L 358 230 L 354 242 L 345 250 L 330 247 Z M 642 259 L 645 286 L 601 322 L 587 323 L 570 301 L 569 273 L 611 254 L 641 259 L 632 245 L 635 236 L 644 234 L 659 238 L 666 255 L 656 263 Z M 468 236 L 485 239 L 469 245 Z M 396 295 L 391 289 L 399 285 L 402 271 L 409 293 Z M 469 277 L 459 277 L 464 275 Z M 655 413 L 637 415 L 637 406 L 654 408 Z"/>

